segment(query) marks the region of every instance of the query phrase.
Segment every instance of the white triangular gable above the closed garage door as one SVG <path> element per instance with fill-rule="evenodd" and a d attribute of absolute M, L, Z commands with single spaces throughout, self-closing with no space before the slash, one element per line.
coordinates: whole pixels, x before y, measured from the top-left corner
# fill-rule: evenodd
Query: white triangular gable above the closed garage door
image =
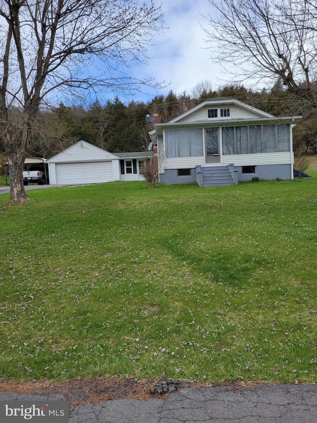
<path fill-rule="evenodd" d="M 104 160 L 118 160 L 119 157 L 115 154 L 109 153 L 96 145 L 80 140 L 65 150 L 57 153 L 51 157 L 47 163 L 62 163 L 62 162 L 93 162 Z"/>

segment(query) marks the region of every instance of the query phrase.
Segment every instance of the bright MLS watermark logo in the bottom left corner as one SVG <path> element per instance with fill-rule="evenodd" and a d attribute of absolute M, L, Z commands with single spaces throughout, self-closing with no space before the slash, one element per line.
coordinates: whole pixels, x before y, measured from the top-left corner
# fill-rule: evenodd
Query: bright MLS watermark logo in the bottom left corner
<path fill-rule="evenodd" d="M 68 423 L 67 401 L 0 401 L 0 422 Z"/>

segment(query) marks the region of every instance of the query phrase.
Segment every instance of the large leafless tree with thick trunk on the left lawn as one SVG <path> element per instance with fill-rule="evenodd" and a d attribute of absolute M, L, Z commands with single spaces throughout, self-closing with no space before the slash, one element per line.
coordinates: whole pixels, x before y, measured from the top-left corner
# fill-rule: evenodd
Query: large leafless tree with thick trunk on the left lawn
<path fill-rule="evenodd" d="M 152 0 L 0 0 L 0 136 L 9 164 L 11 201 L 25 201 L 22 170 L 45 98 L 59 91 L 157 86 L 128 75 L 146 60 L 162 14 Z M 92 61 L 106 69 L 92 71 Z M 119 76 L 118 76 L 119 75 Z M 48 101 L 49 101 L 48 100 Z M 15 106 L 20 114 L 11 116 Z"/>

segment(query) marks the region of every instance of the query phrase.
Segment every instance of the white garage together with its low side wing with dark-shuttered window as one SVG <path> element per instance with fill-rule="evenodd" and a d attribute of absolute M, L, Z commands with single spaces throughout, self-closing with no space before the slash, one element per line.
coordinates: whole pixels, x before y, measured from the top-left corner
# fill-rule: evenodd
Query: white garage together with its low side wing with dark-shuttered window
<path fill-rule="evenodd" d="M 146 156 L 145 152 L 112 154 L 80 140 L 47 161 L 50 183 L 142 180 Z"/>

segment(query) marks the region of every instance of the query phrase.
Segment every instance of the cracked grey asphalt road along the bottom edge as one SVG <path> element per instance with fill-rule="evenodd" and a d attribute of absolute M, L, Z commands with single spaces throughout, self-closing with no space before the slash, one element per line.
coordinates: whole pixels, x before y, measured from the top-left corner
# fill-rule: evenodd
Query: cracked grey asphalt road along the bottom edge
<path fill-rule="evenodd" d="M 1 392 L 0 400 L 65 400 Z M 131 398 L 69 406 L 69 423 L 317 423 L 317 385 L 183 388 L 164 401 Z"/>

